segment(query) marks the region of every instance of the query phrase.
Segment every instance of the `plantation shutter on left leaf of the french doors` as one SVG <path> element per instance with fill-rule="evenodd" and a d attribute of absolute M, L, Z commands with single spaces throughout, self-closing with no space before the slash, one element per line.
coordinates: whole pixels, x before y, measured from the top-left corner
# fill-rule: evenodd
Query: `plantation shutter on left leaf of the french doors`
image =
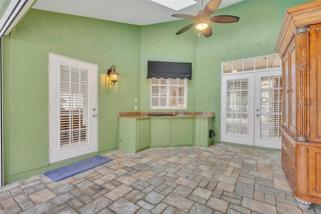
<path fill-rule="evenodd" d="M 226 134 L 248 136 L 249 81 L 228 80 L 226 89 Z"/>

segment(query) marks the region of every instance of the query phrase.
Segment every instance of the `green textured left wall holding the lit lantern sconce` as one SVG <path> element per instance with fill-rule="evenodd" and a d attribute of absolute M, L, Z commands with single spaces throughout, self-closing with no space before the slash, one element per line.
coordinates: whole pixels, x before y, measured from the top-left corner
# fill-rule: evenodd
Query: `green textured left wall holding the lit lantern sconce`
<path fill-rule="evenodd" d="M 31 10 L 3 42 L 5 183 L 94 155 L 48 166 L 48 52 L 98 65 L 98 152 L 118 147 L 117 113 L 140 94 L 139 26 Z"/>

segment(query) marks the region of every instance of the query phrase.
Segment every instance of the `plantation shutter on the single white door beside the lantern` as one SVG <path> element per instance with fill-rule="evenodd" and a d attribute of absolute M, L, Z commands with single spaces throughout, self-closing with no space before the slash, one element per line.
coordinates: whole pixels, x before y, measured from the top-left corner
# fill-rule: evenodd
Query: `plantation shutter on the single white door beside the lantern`
<path fill-rule="evenodd" d="M 88 143 L 88 73 L 60 65 L 60 149 Z"/>

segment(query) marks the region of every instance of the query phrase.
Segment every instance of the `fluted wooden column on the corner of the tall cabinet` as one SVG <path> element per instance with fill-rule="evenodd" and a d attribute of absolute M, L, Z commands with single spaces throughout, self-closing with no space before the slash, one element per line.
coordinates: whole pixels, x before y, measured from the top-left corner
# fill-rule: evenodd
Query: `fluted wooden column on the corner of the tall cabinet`
<path fill-rule="evenodd" d="M 309 137 L 309 27 L 297 28 L 295 34 L 296 136 L 297 141 Z"/>

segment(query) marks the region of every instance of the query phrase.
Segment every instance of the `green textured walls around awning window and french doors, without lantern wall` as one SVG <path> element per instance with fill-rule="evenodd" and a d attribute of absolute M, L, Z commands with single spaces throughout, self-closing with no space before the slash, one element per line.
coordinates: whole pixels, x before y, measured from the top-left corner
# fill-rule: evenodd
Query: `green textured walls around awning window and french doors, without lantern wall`
<path fill-rule="evenodd" d="M 198 36 L 195 29 L 177 31 L 193 20 L 141 27 L 141 110 L 149 108 L 147 60 L 192 62 L 188 81 L 188 111 L 215 112 L 214 141 L 220 141 L 221 62 L 273 54 L 285 10 L 309 1 L 243 1 L 216 11 L 234 15 L 239 22 L 211 23 L 213 35 Z"/>

